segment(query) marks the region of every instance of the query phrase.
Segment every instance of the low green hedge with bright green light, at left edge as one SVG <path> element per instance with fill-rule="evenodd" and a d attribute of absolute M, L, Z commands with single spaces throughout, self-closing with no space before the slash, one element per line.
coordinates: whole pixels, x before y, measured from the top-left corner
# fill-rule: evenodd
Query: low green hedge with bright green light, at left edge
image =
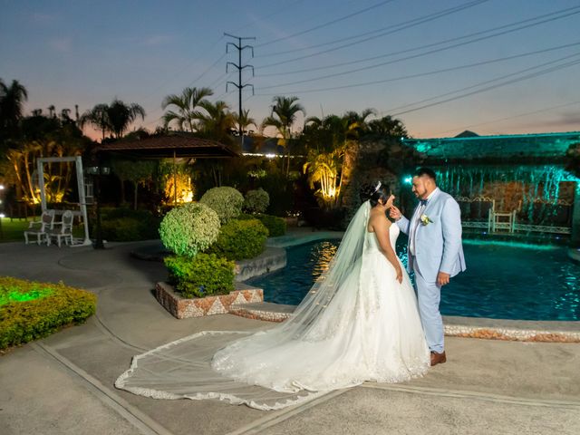
<path fill-rule="evenodd" d="M 31 342 L 95 313 L 97 297 L 84 290 L 0 277 L 0 349 Z"/>

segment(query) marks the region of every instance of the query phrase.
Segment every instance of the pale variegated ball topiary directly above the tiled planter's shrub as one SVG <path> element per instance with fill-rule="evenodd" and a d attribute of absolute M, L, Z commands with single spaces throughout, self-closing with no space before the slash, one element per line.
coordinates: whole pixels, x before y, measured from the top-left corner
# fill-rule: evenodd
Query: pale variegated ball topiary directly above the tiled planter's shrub
<path fill-rule="evenodd" d="M 178 256 L 196 256 L 214 243 L 218 234 L 218 214 L 193 202 L 173 208 L 160 225 L 161 242 Z"/>

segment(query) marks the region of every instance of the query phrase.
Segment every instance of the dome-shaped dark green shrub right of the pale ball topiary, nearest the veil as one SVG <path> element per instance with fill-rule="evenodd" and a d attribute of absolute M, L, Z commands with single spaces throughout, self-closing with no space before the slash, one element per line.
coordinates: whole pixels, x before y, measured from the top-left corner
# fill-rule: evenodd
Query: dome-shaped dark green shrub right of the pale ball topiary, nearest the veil
<path fill-rule="evenodd" d="M 254 258 L 264 251 L 267 237 L 267 228 L 257 219 L 230 220 L 221 227 L 218 240 L 208 252 L 228 260 Z"/>

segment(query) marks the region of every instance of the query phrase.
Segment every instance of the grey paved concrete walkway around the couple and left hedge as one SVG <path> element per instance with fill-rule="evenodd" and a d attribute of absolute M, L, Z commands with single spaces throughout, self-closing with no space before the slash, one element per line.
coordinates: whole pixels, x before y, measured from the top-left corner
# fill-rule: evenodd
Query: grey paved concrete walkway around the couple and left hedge
<path fill-rule="evenodd" d="M 0 357 L 0 433 L 578 434 L 580 344 L 449 337 L 448 362 L 402 384 L 368 383 L 282 411 L 218 401 L 156 401 L 116 390 L 131 356 L 203 330 L 270 324 L 230 314 L 177 320 L 153 297 L 147 245 L 0 245 L 0 275 L 86 288 L 97 314 Z"/>

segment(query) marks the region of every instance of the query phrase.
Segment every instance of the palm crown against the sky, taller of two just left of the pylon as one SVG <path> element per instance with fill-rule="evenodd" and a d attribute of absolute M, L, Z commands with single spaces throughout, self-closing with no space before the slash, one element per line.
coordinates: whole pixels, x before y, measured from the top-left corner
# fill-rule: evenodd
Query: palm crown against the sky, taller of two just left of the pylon
<path fill-rule="evenodd" d="M 163 125 L 167 128 L 171 122 L 176 123 L 179 130 L 198 131 L 198 106 L 205 102 L 206 97 L 213 95 L 209 88 L 185 88 L 181 95 L 171 94 L 161 103 L 163 110 L 168 106 L 175 106 L 177 111 L 167 111 L 163 115 Z"/>

